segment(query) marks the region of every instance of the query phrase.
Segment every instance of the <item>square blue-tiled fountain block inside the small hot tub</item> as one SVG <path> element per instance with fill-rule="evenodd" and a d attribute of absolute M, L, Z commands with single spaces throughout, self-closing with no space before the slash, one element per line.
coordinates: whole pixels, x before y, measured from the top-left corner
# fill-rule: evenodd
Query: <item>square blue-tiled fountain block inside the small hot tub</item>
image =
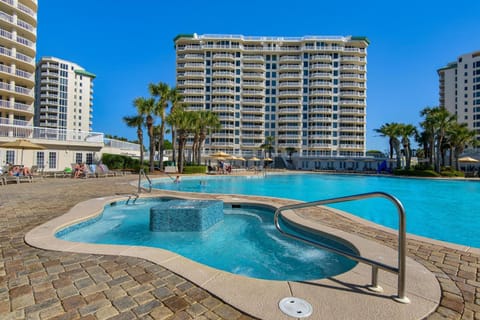
<path fill-rule="evenodd" d="M 221 200 L 170 200 L 150 208 L 151 231 L 204 231 L 223 221 Z"/>

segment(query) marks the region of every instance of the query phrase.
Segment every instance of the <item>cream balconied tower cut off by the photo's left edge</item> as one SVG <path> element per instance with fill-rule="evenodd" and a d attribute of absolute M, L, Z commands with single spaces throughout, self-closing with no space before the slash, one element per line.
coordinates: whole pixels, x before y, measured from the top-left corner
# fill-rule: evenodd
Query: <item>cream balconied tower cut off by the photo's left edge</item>
<path fill-rule="evenodd" d="M 32 126 L 37 0 L 0 1 L 0 22 L 0 124 Z"/>

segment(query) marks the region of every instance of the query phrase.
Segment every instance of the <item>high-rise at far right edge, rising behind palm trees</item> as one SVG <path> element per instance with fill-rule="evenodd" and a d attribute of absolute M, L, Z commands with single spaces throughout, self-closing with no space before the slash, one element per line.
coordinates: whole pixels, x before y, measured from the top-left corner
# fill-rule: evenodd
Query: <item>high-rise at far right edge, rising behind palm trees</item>
<path fill-rule="evenodd" d="M 438 69 L 440 106 L 477 131 L 480 140 L 480 51 L 461 55 Z"/>

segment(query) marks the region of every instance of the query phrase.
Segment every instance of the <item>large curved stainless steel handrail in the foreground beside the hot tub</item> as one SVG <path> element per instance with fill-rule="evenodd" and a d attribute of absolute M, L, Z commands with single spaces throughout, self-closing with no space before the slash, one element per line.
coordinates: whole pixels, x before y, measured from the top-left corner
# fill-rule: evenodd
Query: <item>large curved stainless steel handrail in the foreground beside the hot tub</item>
<path fill-rule="evenodd" d="M 339 203 L 339 202 L 347 202 L 347 201 L 354 201 L 354 200 L 361 200 L 361 199 L 368 199 L 368 198 L 374 198 L 374 197 L 379 197 L 379 198 L 386 198 L 390 200 L 397 208 L 398 211 L 398 216 L 399 216 L 399 223 L 398 223 L 398 266 L 390 266 L 383 264 L 381 262 L 371 260 L 353 253 L 349 253 L 347 251 L 343 251 L 341 249 L 326 245 L 326 244 L 320 244 L 314 241 L 311 241 L 309 239 L 293 235 L 290 233 L 287 233 L 286 231 L 282 230 L 282 227 L 280 226 L 279 223 L 279 217 L 281 213 L 285 210 L 292 210 L 292 209 L 301 209 L 301 208 L 306 208 L 306 207 L 314 207 L 314 206 L 321 206 L 325 204 L 331 204 L 331 203 Z M 287 205 L 278 208 L 275 211 L 275 217 L 274 217 L 274 222 L 275 222 L 275 227 L 280 231 L 282 234 L 293 238 L 297 239 L 303 242 L 306 242 L 308 244 L 321 247 L 323 249 L 326 249 L 328 251 L 334 252 L 336 254 L 342 255 L 344 257 L 350 258 L 352 260 L 355 260 L 357 262 L 363 262 L 365 264 L 368 264 L 372 266 L 372 285 L 369 287 L 370 290 L 373 291 L 382 291 L 382 288 L 378 285 L 378 268 L 383 269 L 385 271 L 391 272 L 398 274 L 398 288 L 397 288 L 397 297 L 394 299 L 398 302 L 401 303 L 410 303 L 410 299 L 408 299 L 405 296 L 405 279 L 406 279 L 406 222 L 405 222 L 405 209 L 403 208 L 402 203 L 395 198 L 392 195 L 389 195 L 388 193 L 385 192 L 371 192 L 371 193 L 363 193 L 363 194 L 357 194 L 357 195 L 351 195 L 351 196 L 346 196 L 346 197 L 339 197 L 339 198 L 331 198 L 331 199 L 326 199 L 326 200 L 319 200 L 319 201 L 312 201 L 312 202 L 305 202 L 305 203 L 299 203 L 299 204 L 292 204 L 292 205 Z"/>

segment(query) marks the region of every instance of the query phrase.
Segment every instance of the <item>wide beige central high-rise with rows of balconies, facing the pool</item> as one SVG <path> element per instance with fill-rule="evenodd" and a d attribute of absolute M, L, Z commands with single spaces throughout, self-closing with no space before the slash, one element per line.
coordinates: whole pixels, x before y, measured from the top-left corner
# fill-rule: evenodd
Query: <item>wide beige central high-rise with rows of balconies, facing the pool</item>
<path fill-rule="evenodd" d="M 275 153 L 303 159 L 365 155 L 367 38 L 192 34 L 174 42 L 188 110 L 210 110 L 222 124 L 206 154 L 262 155 L 269 140 Z"/>

